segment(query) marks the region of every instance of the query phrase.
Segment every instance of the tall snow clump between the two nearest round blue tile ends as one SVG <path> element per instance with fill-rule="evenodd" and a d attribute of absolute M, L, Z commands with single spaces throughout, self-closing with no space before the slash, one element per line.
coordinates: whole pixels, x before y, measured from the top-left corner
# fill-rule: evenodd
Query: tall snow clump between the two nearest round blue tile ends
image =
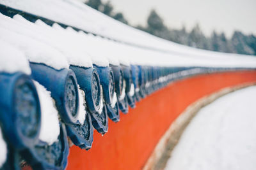
<path fill-rule="evenodd" d="M 58 140 L 60 134 L 60 125 L 58 111 L 56 110 L 51 92 L 47 91 L 44 86 L 34 81 L 41 106 L 41 130 L 39 139 L 52 145 Z"/>

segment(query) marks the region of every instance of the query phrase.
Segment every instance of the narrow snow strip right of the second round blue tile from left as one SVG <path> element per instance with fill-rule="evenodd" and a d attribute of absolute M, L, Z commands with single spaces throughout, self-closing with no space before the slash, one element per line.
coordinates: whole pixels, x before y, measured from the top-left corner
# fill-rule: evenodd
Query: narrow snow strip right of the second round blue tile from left
<path fill-rule="evenodd" d="M 86 106 L 86 102 L 85 102 L 85 93 L 84 90 L 81 90 L 79 85 L 77 85 L 78 90 L 78 94 L 79 94 L 79 111 L 78 111 L 78 122 L 79 124 L 83 125 L 84 124 L 84 120 L 85 120 L 85 116 L 86 116 L 86 110 L 85 110 L 85 106 Z"/>

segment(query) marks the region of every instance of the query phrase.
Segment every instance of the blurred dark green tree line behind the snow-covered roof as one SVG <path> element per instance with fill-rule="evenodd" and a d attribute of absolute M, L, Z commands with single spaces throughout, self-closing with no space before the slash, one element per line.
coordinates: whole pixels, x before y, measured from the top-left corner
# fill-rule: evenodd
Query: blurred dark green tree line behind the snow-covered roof
<path fill-rule="evenodd" d="M 129 25 L 129 22 L 121 12 L 113 12 L 113 6 L 109 1 L 102 3 L 101 0 L 88 0 L 86 4 L 109 17 Z M 211 36 L 207 37 L 198 24 L 196 24 L 191 31 L 187 31 L 185 26 L 183 26 L 182 29 L 170 29 L 164 24 L 163 18 L 161 18 L 155 10 L 150 11 L 145 27 L 141 25 L 134 27 L 148 32 L 149 34 L 153 34 L 154 36 L 158 36 L 159 38 L 182 45 L 193 46 L 195 48 L 216 52 L 256 55 L 256 36 L 253 34 L 245 35 L 241 31 L 234 31 L 231 38 L 227 38 L 224 32 L 218 33 L 213 31 Z"/>

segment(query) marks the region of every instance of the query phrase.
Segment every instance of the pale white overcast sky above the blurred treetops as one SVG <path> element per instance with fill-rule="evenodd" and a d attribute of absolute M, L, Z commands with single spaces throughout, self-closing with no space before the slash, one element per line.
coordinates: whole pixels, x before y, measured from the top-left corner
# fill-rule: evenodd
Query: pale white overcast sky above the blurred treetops
<path fill-rule="evenodd" d="M 107 0 L 102 0 L 106 2 Z M 212 30 L 230 36 L 234 30 L 256 34 L 256 0 L 110 0 L 132 25 L 146 25 L 151 9 L 168 27 L 191 29 L 196 22 L 205 34 Z"/>

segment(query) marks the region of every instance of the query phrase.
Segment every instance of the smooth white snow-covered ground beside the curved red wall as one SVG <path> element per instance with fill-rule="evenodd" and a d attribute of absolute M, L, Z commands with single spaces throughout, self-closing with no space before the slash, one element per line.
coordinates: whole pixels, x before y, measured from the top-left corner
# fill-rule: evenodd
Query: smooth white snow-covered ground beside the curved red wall
<path fill-rule="evenodd" d="M 166 170 L 256 169 L 256 87 L 227 94 L 198 112 Z"/>

